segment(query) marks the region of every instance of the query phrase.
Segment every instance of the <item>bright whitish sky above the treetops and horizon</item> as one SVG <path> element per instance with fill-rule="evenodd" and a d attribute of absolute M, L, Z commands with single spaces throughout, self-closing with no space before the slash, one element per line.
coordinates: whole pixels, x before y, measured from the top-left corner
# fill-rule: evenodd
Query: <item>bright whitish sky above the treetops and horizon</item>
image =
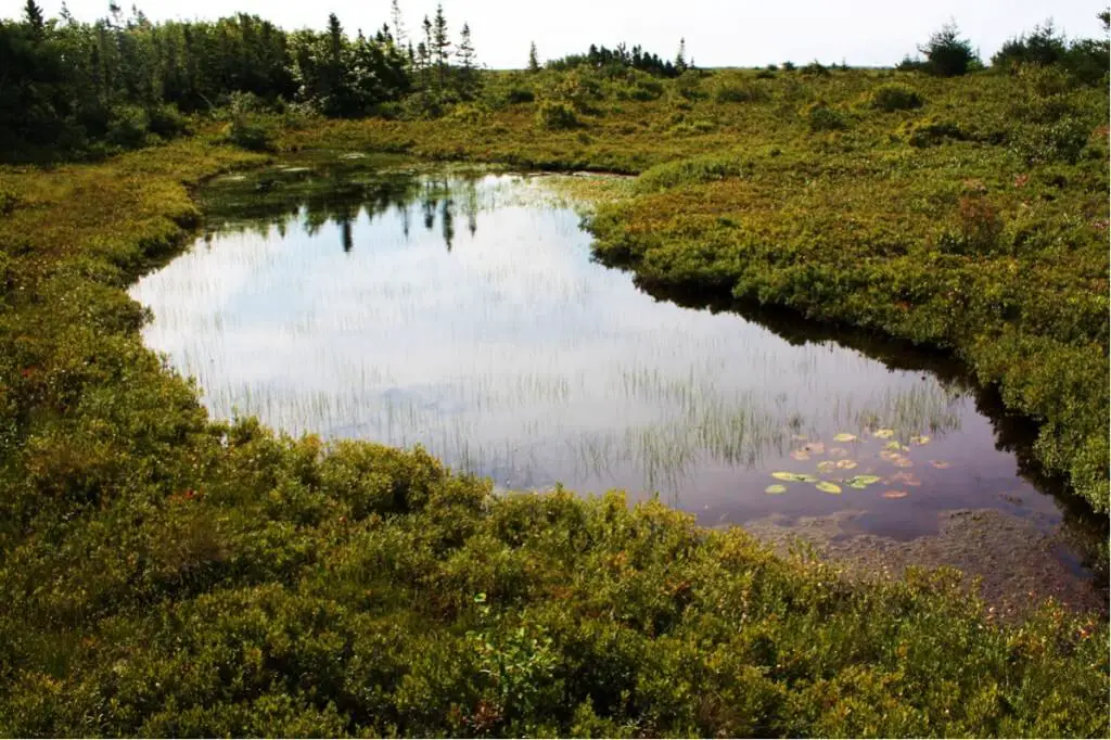
<path fill-rule="evenodd" d="M 68 0 L 70 11 L 91 21 L 107 13 L 108 0 Z M 118 0 L 130 10 L 131 0 Z M 57 16 L 61 0 L 39 0 L 48 16 Z M 0 0 L 0 17 L 21 13 L 24 0 Z M 336 12 L 352 36 L 359 28 L 377 29 L 390 17 L 390 0 L 140 0 L 152 20 L 214 19 L 234 11 L 257 13 L 286 29 L 322 29 Z M 400 0 L 410 30 L 434 0 Z M 444 0 L 454 33 L 470 23 L 480 61 L 496 69 L 520 68 L 534 40 L 541 60 L 584 51 L 591 43 L 639 43 L 671 58 L 685 37 L 699 67 L 754 67 L 787 60 L 818 59 L 824 63 L 893 66 L 950 18 L 979 47 L 987 61 L 1000 44 L 1052 17 L 1072 37 L 1099 37 L 1097 0 L 791 0 L 735 2 L 730 0 Z"/>

